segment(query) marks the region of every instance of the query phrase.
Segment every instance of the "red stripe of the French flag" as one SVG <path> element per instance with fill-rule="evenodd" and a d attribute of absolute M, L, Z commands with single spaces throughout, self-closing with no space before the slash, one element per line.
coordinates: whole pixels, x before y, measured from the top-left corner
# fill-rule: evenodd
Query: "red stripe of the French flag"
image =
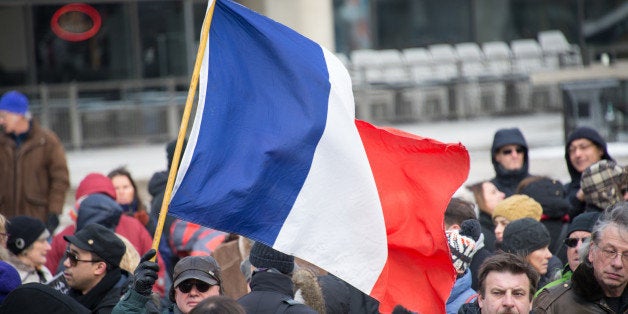
<path fill-rule="evenodd" d="M 455 280 L 443 229 L 445 208 L 469 174 L 462 144 L 445 144 L 356 120 L 384 211 L 388 259 L 371 296 L 444 313 Z"/>

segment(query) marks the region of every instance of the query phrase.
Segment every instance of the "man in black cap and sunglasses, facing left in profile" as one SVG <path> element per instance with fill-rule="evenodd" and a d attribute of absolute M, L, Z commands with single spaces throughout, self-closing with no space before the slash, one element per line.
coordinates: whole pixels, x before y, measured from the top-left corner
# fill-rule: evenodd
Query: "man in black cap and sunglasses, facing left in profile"
<path fill-rule="evenodd" d="M 109 313 L 122 295 L 120 260 L 126 251 L 113 231 L 90 224 L 64 236 L 63 277 L 71 288 L 69 295 L 93 313 Z"/>

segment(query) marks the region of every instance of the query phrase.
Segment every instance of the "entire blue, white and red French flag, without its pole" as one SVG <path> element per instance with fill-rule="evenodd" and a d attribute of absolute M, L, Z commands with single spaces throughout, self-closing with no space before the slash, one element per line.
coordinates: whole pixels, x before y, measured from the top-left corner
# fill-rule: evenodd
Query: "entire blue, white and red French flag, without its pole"
<path fill-rule="evenodd" d="M 443 231 L 469 156 L 355 119 L 342 63 L 288 27 L 215 4 L 169 213 L 307 260 L 370 294 L 442 313 Z"/>

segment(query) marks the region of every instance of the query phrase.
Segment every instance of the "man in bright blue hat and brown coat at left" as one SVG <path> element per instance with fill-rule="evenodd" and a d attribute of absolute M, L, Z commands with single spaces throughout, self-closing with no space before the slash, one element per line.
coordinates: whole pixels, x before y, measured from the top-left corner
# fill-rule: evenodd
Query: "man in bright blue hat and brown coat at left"
<path fill-rule="evenodd" d="M 70 186 L 63 145 L 31 119 L 17 91 L 0 98 L 0 127 L 0 213 L 37 218 L 54 231 Z"/>

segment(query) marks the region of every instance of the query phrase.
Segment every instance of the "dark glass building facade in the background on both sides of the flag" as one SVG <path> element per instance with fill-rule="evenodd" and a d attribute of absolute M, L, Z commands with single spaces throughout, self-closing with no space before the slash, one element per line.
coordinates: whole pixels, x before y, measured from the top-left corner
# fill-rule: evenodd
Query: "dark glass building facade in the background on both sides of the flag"
<path fill-rule="evenodd" d="M 510 41 L 561 30 L 582 55 L 628 51 L 628 3 L 621 0 L 330 0 L 336 50 Z M 65 0 L 0 1 L 0 89 L 42 83 L 189 77 L 206 8 L 201 0 L 86 0 L 101 20 L 82 41 L 84 10 L 53 17 Z M 54 25 L 53 25 L 54 24 Z"/>

